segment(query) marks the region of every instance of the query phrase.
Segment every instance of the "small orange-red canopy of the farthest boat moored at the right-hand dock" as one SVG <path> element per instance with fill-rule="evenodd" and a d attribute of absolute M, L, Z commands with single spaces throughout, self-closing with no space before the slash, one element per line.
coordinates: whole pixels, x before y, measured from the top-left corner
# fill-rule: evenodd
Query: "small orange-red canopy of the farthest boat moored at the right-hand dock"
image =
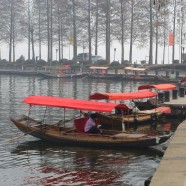
<path fill-rule="evenodd" d="M 138 87 L 138 90 L 155 88 L 157 90 L 173 90 L 176 85 L 172 84 L 158 84 L 158 85 L 142 85 Z"/>

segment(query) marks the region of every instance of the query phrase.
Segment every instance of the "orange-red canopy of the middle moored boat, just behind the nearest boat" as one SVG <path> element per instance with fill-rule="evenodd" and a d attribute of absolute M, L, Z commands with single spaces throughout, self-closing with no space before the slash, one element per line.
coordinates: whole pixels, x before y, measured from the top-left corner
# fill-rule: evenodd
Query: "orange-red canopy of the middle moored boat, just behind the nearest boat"
<path fill-rule="evenodd" d="M 155 97 L 157 94 L 149 90 L 128 93 L 95 93 L 89 96 L 89 99 L 107 99 L 107 100 L 132 100 Z"/>

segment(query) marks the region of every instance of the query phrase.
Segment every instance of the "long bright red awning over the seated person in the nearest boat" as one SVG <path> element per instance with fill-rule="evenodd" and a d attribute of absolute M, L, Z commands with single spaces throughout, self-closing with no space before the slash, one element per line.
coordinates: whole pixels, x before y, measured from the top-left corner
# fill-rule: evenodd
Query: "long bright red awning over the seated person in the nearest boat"
<path fill-rule="evenodd" d="M 116 107 L 121 107 L 120 104 L 93 102 L 86 100 L 77 100 L 71 98 L 59 98 L 52 96 L 29 96 L 23 100 L 24 103 L 30 105 L 61 107 L 77 110 L 88 110 L 96 112 L 112 112 Z M 125 108 L 126 106 L 123 105 Z"/>

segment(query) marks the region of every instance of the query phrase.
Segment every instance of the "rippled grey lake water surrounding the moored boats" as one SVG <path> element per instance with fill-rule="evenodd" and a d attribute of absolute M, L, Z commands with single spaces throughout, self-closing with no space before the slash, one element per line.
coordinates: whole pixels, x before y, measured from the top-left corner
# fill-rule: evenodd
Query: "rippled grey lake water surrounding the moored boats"
<path fill-rule="evenodd" d="M 137 87 L 142 84 L 86 78 L 40 79 L 1 75 L 0 185 L 143 186 L 161 160 L 162 156 L 157 151 L 57 146 L 29 135 L 22 136 L 9 119 L 10 116 L 27 113 L 29 107 L 22 100 L 28 95 L 88 99 L 94 92 L 137 91 Z M 70 112 L 68 117 L 73 114 Z M 179 122 L 172 119 L 168 121 L 173 128 Z"/>

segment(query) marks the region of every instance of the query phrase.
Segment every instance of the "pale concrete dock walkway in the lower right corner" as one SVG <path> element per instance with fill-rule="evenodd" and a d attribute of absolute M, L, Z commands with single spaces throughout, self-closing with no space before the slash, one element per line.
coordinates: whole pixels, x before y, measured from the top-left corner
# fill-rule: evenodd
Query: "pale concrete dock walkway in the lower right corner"
<path fill-rule="evenodd" d="M 186 120 L 172 136 L 150 186 L 186 186 Z"/>

